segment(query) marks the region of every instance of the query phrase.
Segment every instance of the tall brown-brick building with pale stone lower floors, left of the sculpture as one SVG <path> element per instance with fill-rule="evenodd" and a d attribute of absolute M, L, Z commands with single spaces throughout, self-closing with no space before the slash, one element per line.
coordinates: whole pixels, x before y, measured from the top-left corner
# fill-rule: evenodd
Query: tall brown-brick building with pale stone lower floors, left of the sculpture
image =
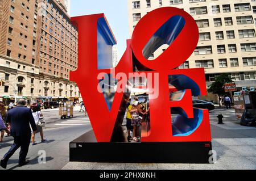
<path fill-rule="evenodd" d="M 78 99 L 77 30 L 64 1 L 0 0 L 0 99 Z"/>

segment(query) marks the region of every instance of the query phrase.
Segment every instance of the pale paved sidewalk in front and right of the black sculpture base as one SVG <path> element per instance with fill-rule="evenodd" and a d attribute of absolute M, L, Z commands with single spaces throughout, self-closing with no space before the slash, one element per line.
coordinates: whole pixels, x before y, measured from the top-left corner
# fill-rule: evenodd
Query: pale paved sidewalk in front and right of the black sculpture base
<path fill-rule="evenodd" d="M 224 115 L 224 125 L 218 124 L 218 113 Z M 131 169 L 131 170 L 172 170 L 172 169 L 250 169 L 256 170 L 256 127 L 243 127 L 236 119 L 234 110 L 218 108 L 210 111 L 213 150 L 217 152 L 216 164 L 162 164 L 162 163 L 91 163 L 69 162 L 63 170 L 69 169 Z M 193 157 L 193 155 L 191 155 Z"/>

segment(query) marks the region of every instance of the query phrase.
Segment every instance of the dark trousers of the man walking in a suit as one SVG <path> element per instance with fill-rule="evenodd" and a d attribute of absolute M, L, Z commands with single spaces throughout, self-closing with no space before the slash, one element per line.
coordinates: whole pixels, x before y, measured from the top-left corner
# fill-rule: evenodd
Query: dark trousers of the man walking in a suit
<path fill-rule="evenodd" d="M 16 150 L 20 148 L 19 152 L 19 165 L 26 162 L 26 157 L 28 153 L 28 147 L 30 146 L 31 135 L 27 136 L 14 136 L 14 143 L 10 150 L 5 154 L 3 160 L 7 162 L 9 158 L 15 153 Z"/>

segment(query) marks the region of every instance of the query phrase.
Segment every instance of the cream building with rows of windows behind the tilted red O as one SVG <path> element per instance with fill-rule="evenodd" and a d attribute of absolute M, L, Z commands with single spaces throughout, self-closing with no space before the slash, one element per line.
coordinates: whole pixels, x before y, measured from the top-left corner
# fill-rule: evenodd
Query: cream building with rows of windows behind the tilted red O
<path fill-rule="evenodd" d="M 238 90 L 256 87 L 255 0 L 128 0 L 130 36 L 147 12 L 167 6 L 191 14 L 200 32 L 195 52 L 179 69 L 205 68 L 208 86 L 216 75 L 228 73 Z M 167 48 L 164 45 L 150 59 Z"/>

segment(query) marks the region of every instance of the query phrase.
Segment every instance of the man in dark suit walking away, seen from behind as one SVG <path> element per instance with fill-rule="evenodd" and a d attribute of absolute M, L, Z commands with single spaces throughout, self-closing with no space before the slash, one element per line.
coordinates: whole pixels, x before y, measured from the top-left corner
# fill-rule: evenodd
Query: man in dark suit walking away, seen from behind
<path fill-rule="evenodd" d="M 30 146 L 31 128 L 33 132 L 36 131 L 36 124 L 30 108 L 24 107 L 26 100 L 20 99 L 17 106 L 9 111 L 6 121 L 11 125 L 11 136 L 14 137 L 13 146 L 5 154 L 1 160 L 1 167 L 6 169 L 9 158 L 20 148 L 19 152 L 19 166 L 26 165 L 28 147 Z"/>

